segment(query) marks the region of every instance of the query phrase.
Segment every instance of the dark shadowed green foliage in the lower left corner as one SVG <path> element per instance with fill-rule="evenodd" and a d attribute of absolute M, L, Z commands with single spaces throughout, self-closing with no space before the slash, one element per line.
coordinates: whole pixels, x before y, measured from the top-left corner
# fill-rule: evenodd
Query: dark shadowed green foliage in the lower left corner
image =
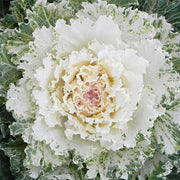
<path fill-rule="evenodd" d="M 26 144 L 21 137 L 11 137 L 8 126 L 14 121 L 5 106 L 0 107 L 0 179 L 14 179 L 23 174 L 24 148 Z M 4 154 L 6 156 L 4 156 Z M 8 158 L 10 157 L 10 158 Z M 11 166 L 10 166 L 11 165 Z M 10 168 L 11 167 L 11 168 Z M 10 168 L 10 169 L 9 169 Z M 12 174 L 11 174 L 12 173 Z"/>

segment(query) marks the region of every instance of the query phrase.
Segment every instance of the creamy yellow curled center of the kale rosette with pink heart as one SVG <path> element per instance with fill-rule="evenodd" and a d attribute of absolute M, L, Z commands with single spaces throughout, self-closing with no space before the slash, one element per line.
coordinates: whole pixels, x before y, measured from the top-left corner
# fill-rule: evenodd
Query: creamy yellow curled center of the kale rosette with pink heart
<path fill-rule="evenodd" d="M 64 100 L 74 107 L 76 114 L 86 117 L 97 115 L 108 105 L 109 81 L 103 67 L 97 64 L 82 66 L 73 80 L 65 83 Z"/>

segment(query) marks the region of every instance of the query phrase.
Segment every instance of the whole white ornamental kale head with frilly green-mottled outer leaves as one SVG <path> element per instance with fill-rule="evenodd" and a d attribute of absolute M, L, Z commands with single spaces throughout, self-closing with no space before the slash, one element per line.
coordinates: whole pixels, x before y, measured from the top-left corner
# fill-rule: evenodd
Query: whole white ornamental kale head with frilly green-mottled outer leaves
<path fill-rule="evenodd" d="M 40 7 L 61 17 L 40 26 Z M 23 75 L 6 108 L 16 119 L 11 134 L 27 143 L 32 178 L 73 179 L 76 166 L 86 169 L 82 179 L 127 179 L 157 147 L 179 148 L 180 82 L 171 62 L 179 34 L 157 15 L 105 1 L 82 7 L 72 16 L 64 1 L 38 1 L 27 11 L 32 40 L 9 48 Z"/>

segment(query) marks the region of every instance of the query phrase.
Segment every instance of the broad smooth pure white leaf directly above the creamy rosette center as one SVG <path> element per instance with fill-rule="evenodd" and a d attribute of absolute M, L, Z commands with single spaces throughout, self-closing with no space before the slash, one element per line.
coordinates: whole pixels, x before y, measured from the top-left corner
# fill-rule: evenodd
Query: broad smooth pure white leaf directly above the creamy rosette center
<path fill-rule="evenodd" d="M 105 44 L 117 44 L 121 32 L 111 17 L 101 16 L 97 21 L 88 18 L 72 20 L 71 25 L 59 20 L 56 23 L 57 55 L 64 56 L 73 50 L 86 47 L 92 40 Z M 104 31 L 108 29 L 108 31 Z"/>

